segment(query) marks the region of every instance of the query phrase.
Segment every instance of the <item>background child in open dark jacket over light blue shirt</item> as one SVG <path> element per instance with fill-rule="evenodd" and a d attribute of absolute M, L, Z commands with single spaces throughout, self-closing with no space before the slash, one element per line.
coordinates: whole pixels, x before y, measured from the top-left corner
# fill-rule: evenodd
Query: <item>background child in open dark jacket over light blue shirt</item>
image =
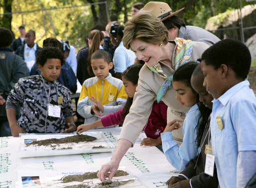
<path fill-rule="evenodd" d="M 35 63 L 37 52 L 42 49 L 36 43 L 34 43 L 34 41 L 35 31 L 27 31 L 25 34 L 25 44 L 19 46 L 15 52 L 15 54 L 19 55 L 26 62 L 29 72 Z"/>

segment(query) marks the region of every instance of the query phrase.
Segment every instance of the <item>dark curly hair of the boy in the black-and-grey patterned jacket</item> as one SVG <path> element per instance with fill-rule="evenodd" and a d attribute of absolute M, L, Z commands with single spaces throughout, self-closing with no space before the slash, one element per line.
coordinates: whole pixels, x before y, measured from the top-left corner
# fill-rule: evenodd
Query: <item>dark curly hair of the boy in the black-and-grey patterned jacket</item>
<path fill-rule="evenodd" d="M 65 64 L 65 57 L 63 53 L 56 47 L 47 46 L 37 52 L 36 64 L 44 66 L 47 59 L 59 59 L 61 66 Z"/>

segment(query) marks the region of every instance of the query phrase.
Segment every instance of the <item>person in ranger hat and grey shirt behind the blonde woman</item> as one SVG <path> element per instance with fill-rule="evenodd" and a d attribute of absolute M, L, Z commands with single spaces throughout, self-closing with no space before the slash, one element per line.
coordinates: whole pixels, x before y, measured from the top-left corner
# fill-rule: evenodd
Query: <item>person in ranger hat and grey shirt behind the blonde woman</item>
<path fill-rule="evenodd" d="M 145 4 L 141 11 L 149 11 L 163 22 L 168 30 L 169 40 L 179 37 L 186 40 L 204 42 L 210 46 L 220 41 L 217 36 L 201 27 L 186 26 L 184 20 L 176 16 L 183 9 L 181 8 L 174 12 L 166 2 L 150 1 Z"/>

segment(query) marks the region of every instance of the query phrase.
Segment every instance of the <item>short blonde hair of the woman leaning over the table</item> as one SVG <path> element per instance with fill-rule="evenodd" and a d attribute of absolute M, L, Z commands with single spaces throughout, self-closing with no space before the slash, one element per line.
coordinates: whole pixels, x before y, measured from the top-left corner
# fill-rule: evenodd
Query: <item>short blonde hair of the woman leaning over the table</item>
<path fill-rule="evenodd" d="M 166 45 L 168 43 L 168 30 L 154 14 L 141 11 L 134 15 L 125 26 L 124 46 L 130 49 L 130 43 L 135 39 Z"/>

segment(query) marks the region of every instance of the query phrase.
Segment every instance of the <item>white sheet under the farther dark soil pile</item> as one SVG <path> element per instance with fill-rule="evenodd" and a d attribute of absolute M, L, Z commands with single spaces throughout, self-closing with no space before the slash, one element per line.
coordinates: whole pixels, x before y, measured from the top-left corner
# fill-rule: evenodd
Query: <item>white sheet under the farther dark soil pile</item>
<path fill-rule="evenodd" d="M 84 132 L 84 135 L 96 137 L 97 140 L 91 142 L 68 143 L 51 146 L 26 146 L 25 142 L 29 140 L 46 140 L 51 138 L 64 138 L 74 136 L 75 134 L 22 134 L 20 135 L 20 152 L 19 157 L 41 157 L 54 155 L 70 155 L 82 153 L 102 153 L 113 152 L 115 146 L 106 140 L 102 132 Z M 103 146 L 103 148 L 93 148 Z M 54 148 L 54 149 L 53 149 Z"/>

